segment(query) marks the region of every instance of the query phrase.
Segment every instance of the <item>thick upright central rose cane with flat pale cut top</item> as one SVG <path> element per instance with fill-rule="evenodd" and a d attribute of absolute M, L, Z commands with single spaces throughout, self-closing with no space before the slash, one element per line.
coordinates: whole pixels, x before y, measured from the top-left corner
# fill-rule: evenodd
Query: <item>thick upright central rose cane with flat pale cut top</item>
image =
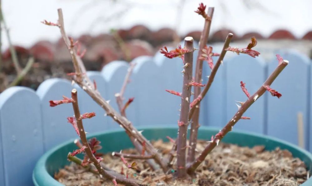
<path fill-rule="evenodd" d="M 188 112 L 190 108 L 190 96 L 192 87 L 189 83 L 193 78 L 193 37 L 186 37 L 184 39 L 184 47 L 188 50 L 184 54 L 184 74 L 183 74 L 183 87 L 181 94 L 181 112 L 180 120 L 178 121 L 178 144 L 177 144 L 177 172 L 178 178 L 186 176 L 186 147 L 187 147 L 187 131 L 188 131 Z"/>

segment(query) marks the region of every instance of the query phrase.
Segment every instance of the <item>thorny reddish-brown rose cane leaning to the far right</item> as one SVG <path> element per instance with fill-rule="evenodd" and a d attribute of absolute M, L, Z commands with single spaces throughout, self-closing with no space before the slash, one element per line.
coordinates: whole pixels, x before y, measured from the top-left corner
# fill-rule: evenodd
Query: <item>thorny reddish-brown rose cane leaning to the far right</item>
<path fill-rule="evenodd" d="M 205 149 L 201 152 L 201 154 L 197 157 L 197 159 L 188 165 L 188 174 L 193 174 L 194 171 L 197 169 L 197 167 L 205 160 L 205 157 L 212 151 L 214 147 L 216 147 L 220 140 L 229 132 L 232 131 L 233 126 L 242 119 L 242 115 L 246 110 L 260 97 L 262 96 L 267 88 L 273 83 L 273 81 L 276 79 L 276 77 L 280 74 L 280 72 L 287 66 L 289 62 L 287 60 L 283 60 L 282 63 L 280 63 L 276 69 L 272 72 L 272 74 L 269 76 L 268 79 L 263 83 L 263 85 L 259 88 L 259 90 L 254 93 L 252 96 L 250 96 L 246 102 L 242 102 L 241 107 L 238 109 L 236 114 L 232 117 L 232 119 L 227 123 L 227 125 L 216 134 L 216 136 L 213 138 L 212 141 L 209 142 L 209 144 L 205 147 Z M 270 90 L 268 90 L 270 91 Z M 245 92 L 245 91 L 244 91 Z M 270 91 L 272 94 L 272 92 Z M 275 93 L 275 92 L 273 92 Z M 276 93 L 275 93 L 276 94 Z M 273 94 L 272 94 L 273 95 Z M 277 95 L 273 95 L 277 96 Z"/>

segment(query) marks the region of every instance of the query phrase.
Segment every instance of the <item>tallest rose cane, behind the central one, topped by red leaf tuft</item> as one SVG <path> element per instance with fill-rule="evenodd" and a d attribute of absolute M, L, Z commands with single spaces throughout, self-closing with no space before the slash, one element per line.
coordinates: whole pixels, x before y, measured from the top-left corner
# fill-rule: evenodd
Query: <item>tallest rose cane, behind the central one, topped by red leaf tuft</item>
<path fill-rule="evenodd" d="M 200 8 L 198 8 L 198 9 L 200 9 Z M 195 69 L 195 82 L 197 82 L 197 83 L 202 83 L 202 66 L 203 66 L 203 60 L 201 59 L 201 56 L 203 53 L 202 49 L 204 49 L 204 47 L 206 46 L 207 41 L 208 41 L 213 11 L 214 11 L 213 7 L 208 8 L 207 17 L 209 17 L 209 19 L 207 19 L 207 18 L 205 19 L 204 29 L 202 31 L 202 35 L 201 35 L 201 38 L 199 41 L 199 50 L 198 50 L 196 69 Z M 198 12 L 201 12 L 201 11 L 198 11 Z M 200 14 L 200 15 L 202 15 L 202 14 Z M 201 92 L 200 87 L 194 87 L 194 99 L 196 99 L 199 96 L 200 92 Z M 190 148 L 188 149 L 187 162 L 192 162 L 195 160 L 195 149 L 196 149 L 196 144 L 197 144 L 197 133 L 198 133 L 198 128 L 199 128 L 200 104 L 198 104 L 197 106 L 198 107 L 197 107 L 197 109 L 196 109 L 196 111 L 192 117 L 192 122 L 191 122 L 191 131 L 190 131 L 190 139 L 189 139 Z"/>

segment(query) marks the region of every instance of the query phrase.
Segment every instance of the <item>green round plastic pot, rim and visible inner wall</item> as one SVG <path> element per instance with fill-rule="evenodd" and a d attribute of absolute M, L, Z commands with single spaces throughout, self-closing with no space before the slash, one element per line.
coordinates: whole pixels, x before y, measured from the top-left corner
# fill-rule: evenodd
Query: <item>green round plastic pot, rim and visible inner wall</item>
<path fill-rule="evenodd" d="M 166 136 L 177 136 L 176 127 L 144 127 L 140 128 L 139 130 L 144 130 L 143 134 L 149 140 L 163 139 L 164 141 L 168 141 Z M 219 129 L 217 128 L 201 127 L 198 131 L 198 139 L 208 141 L 210 140 L 210 137 L 215 135 L 218 131 Z M 119 151 L 121 149 L 133 147 L 130 140 L 128 139 L 128 136 L 123 130 L 105 131 L 89 136 L 89 138 L 92 137 L 96 137 L 101 141 L 101 145 L 103 146 L 103 153 Z M 56 146 L 55 148 L 47 151 L 39 159 L 32 174 L 32 180 L 36 186 L 62 185 L 53 179 L 53 175 L 60 168 L 64 167 L 65 165 L 69 165 L 70 162 L 67 161 L 66 157 L 68 152 L 76 149 L 76 145 L 73 143 L 73 141 L 74 140 L 67 141 L 61 145 Z M 248 147 L 253 147 L 255 145 L 265 145 L 266 150 L 274 150 L 276 147 L 287 149 L 293 154 L 294 157 L 298 157 L 300 160 L 305 162 L 305 165 L 310 171 L 310 175 L 312 175 L 312 155 L 306 150 L 303 150 L 286 141 L 259 134 L 231 131 L 222 139 L 222 142 Z M 311 185 L 312 178 L 308 179 L 304 184 L 302 184 L 302 186 Z"/>

